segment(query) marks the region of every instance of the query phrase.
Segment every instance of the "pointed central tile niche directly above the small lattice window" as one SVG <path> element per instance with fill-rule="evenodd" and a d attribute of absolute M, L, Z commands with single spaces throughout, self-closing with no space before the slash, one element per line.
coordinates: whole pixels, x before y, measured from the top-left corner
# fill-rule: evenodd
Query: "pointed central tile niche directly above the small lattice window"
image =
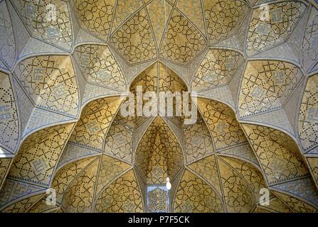
<path fill-rule="evenodd" d="M 184 165 L 179 142 L 159 117 L 147 128 L 135 155 L 135 165 L 148 184 L 165 184 L 166 177 L 172 179 Z"/>

